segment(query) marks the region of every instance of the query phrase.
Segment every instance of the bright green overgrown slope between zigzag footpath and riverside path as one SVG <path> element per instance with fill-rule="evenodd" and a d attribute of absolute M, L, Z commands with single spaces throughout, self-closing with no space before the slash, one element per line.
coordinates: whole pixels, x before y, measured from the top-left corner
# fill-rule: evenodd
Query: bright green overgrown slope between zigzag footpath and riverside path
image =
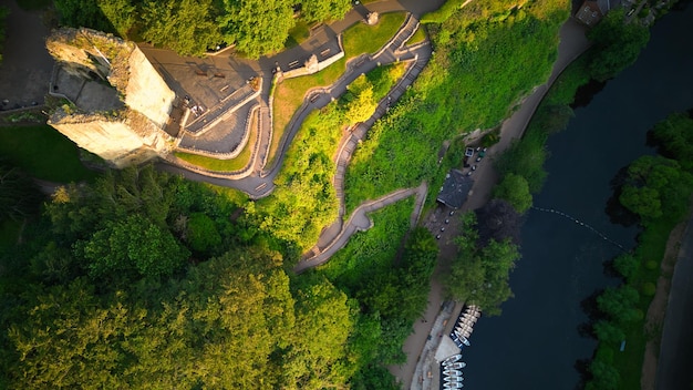
<path fill-rule="evenodd" d="M 443 141 L 497 126 L 545 82 L 567 17 L 562 1 L 492 1 L 472 2 L 441 24 L 426 24 L 435 54 L 354 153 L 346 209 L 423 179 L 442 183 L 449 168 L 437 164 Z"/>

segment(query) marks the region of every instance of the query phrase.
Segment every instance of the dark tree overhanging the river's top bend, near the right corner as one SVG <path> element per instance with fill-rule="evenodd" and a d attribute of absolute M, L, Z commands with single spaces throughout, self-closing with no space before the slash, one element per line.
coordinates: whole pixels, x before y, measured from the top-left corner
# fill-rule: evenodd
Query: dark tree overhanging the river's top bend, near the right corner
<path fill-rule="evenodd" d="M 624 22 L 625 8 L 610 11 L 589 32 L 593 42 L 589 72 L 598 81 L 604 81 L 630 66 L 650 40 L 650 29 L 641 23 Z"/>

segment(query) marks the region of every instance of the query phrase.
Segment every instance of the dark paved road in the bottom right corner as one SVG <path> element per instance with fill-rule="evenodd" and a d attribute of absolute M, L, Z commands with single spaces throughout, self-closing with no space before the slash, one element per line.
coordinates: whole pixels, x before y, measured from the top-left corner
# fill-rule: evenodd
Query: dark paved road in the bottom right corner
<path fill-rule="evenodd" d="M 693 219 L 683 235 L 674 268 L 660 357 L 656 368 L 656 390 L 691 389 L 693 372 Z"/>

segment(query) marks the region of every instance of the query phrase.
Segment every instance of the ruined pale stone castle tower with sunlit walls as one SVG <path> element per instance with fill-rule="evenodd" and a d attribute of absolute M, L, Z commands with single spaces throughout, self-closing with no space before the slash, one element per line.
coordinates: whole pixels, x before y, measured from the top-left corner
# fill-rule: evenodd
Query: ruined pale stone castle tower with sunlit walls
<path fill-rule="evenodd" d="M 70 102 L 54 110 L 51 126 L 115 167 L 170 153 L 176 95 L 136 44 L 64 28 L 46 48 L 59 64 L 50 94 Z"/>

